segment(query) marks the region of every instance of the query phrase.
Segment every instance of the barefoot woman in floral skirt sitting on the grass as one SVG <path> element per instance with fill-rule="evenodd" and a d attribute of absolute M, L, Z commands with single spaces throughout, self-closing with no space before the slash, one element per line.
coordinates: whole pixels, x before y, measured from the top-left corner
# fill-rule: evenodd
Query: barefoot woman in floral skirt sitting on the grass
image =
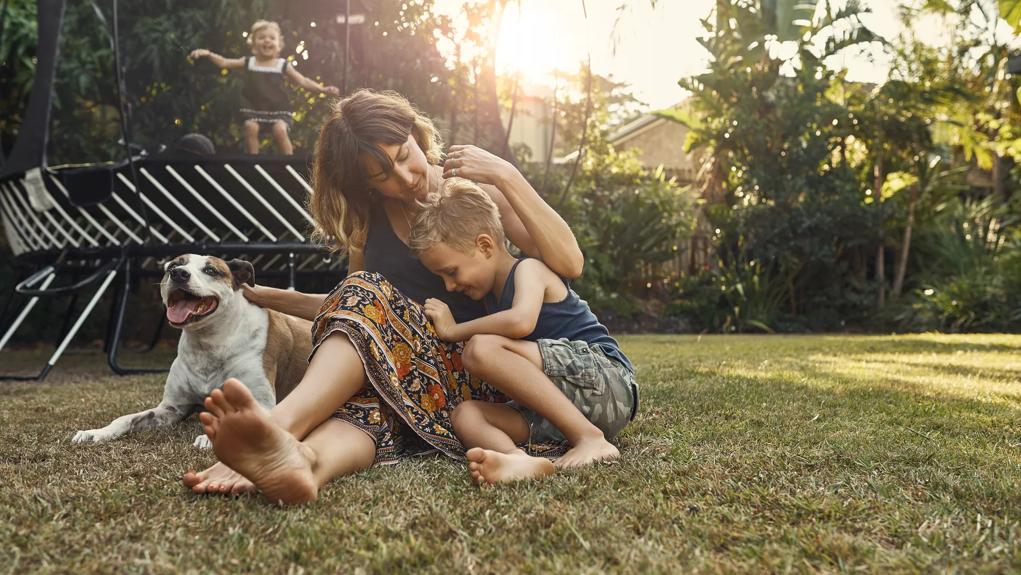
<path fill-rule="evenodd" d="M 485 312 L 447 293 L 407 247 L 420 204 L 454 176 L 483 185 L 525 254 L 562 277 L 581 275 L 571 229 L 512 164 L 452 146 L 440 165 L 433 124 L 395 93 L 362 90 L 339 101 L 315 145 L 309 206 L 317 236 L 347 252 L 350 275 L 329 295 L 246 288 L 259 305 L 313 320 L 312 355 L 298 387 L 270 412 L 236 380 L 207 398 L 201 419 L 220 463 L 185 474 L 193 491 L 259 490 L 300 504 L 374 464 L 428 449 L 464 454 L 451 412 L 501 397 L 469 377 L 464 344 L 440 339 L 422 303 L 442 299 L 458 321 Z"/>

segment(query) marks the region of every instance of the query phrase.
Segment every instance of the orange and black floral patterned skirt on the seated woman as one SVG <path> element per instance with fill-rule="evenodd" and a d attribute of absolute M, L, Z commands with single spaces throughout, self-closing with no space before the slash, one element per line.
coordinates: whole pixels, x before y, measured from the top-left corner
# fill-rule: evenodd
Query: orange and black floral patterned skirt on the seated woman
<path fill-rule="evenodd" d="M 441 340 L 425 308 L 380 274 L 355 272 L 334 288 L 312 323 L 312 354 L 327 337 L 345 334 L 369 384 L 334 417 L 376 440 L 376 464 L 433 449 L 459 458 L 465 448 L 450 414 L 466 399 L 505 401 L 460 363 L 464 343 Z"/>

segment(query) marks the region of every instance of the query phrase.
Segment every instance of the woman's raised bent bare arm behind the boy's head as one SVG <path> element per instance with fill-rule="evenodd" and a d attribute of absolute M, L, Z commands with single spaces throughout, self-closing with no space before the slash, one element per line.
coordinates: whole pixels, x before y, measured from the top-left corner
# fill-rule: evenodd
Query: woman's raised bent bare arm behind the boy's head
<path fill-rule="evenodd" d="M 476 146 L 450 146 L 443 177 L 453 176 L 489 184 L 483 189 L 500 208 L 503 232 L 522 251 L 561 277 L 581 277 L 585 256 L 568 223 L 508 161 Z"/>

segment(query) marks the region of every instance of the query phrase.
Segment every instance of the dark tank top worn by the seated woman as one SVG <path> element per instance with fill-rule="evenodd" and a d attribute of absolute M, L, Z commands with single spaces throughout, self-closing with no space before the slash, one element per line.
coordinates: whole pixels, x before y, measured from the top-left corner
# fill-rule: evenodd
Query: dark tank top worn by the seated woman
<path fill-rule="evenodd" d="M 434 275 L 411 250 L 400 241 L 390 226 L 386 210 L 378 202 L 369 209 L 369 237 L 366 238 L 364 266 L 367 272 L 382 274 L 393 287 L 414 301 L 424 303 L 435 297 L 450 306 L 457 323 L 469 322 L 486 315 L 485 305 L 461 293 L 451 293 L 443 287 L 443 279 Z"/>

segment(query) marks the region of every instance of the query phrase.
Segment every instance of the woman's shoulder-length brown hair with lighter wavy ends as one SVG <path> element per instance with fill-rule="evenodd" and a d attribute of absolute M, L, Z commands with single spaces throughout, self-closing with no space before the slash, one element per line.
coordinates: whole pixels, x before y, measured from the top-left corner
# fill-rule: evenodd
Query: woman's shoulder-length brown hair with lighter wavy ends
<path fill-rule="evenodd" d="M 315 223 L 313 240 L 335 251 L 364 249 L 373 198 L 359 156 L 366 154 L 390 172 L 393 161 L 381 146 L 403 144 L 408 135 L 429 163 L 439 163 L 439 132 L 400 94 L 359 90 L 333 105 L 312 157 L 308 209 Z"/>

